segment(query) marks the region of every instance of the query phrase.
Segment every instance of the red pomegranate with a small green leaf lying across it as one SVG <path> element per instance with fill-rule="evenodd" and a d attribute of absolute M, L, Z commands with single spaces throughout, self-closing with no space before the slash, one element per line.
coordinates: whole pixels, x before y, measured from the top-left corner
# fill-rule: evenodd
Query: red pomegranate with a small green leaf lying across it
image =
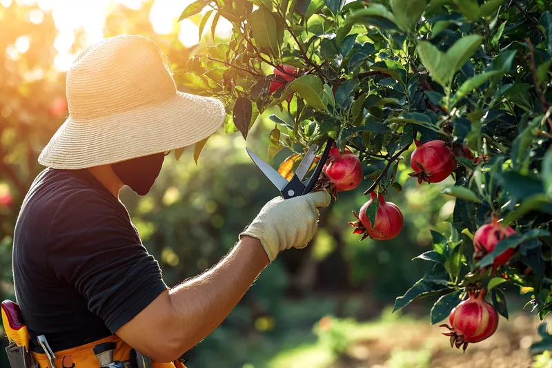
<path fill-rule="evenodd" d="M 360 208 L 360 215 L 357 215 L 357 213 L 353 211 L 353 215 L 357 217 L 357 221 L 349 222 L 351 226 L 356 227 L 353 233 L 364 234 L 360 239 L 361 241 L 368 236 L 375 240 L 393 239 L 395 236 L 399 235 L 402 230 L 402 212 L 396 204 L 385 202 L 383 195 L 377 195 L 377 200 L 380 201 L 380 207 L 377 209 L 375 224 L 372 226 L 372 223 L 368 220 L 368 216 L 366 215 L 366 210 L 374 198 L 375 192 L 370 193 L 370 200 Z"/>

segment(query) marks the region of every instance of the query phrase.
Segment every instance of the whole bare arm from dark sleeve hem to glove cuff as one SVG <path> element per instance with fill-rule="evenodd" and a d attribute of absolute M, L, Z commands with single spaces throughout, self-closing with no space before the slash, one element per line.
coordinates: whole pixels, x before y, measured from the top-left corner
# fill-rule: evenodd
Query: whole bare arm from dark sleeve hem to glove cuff
<path fill-rule="evenodd" d="M 116 334 L 152 359 L 176 360 L 220 325 L 267 264 L 261 242 L 244 236 L 217 266 L 161 293 Z"/>

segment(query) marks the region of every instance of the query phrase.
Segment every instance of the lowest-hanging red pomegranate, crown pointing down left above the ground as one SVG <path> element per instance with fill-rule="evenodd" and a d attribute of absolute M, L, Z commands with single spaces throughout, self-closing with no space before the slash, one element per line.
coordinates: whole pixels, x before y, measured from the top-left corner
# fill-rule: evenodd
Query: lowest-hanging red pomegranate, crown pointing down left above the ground
<path fill-rule="evenodd" d="M 480 342 L 495 333 L 498 327 L 498 313 L 493 306 L 485 302 L 486 289 L 470 290 L 469 299 L 460 302 L 449 315 L 449 332 L 444 336 L 451 337 L 451 347 L 466 351 L 469 342 Z"/>

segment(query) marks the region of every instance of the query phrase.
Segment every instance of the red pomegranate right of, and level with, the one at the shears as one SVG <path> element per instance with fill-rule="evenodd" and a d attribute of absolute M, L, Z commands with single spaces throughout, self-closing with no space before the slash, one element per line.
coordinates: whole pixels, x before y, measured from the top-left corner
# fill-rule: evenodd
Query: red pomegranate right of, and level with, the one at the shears
<path fill-rule="evenodd" d="M 418 183 L 438 183 L 446 179 L 456 168 L 456 159 L 451 148 L 441 140 L 424 144 L 414 141 L 416 149 L 412 153 L 410 166 L 415 171 L 408 175 L 418 178 Z"/>

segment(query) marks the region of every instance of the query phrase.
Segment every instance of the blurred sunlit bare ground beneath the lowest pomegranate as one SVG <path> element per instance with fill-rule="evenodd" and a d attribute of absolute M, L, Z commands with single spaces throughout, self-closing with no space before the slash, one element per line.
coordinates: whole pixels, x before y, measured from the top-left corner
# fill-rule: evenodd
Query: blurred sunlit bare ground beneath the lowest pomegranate
<path fill-rule="evenodd" d="M 358 340 L 335 368 L 526 368 L 529 346 L 539 340 L 538 318 L 500 318 L 491 338 L 469 345 L 466 352 L 452 349 L 443 328 L 420 322 L 397 325 L 373 338 Z"/>

